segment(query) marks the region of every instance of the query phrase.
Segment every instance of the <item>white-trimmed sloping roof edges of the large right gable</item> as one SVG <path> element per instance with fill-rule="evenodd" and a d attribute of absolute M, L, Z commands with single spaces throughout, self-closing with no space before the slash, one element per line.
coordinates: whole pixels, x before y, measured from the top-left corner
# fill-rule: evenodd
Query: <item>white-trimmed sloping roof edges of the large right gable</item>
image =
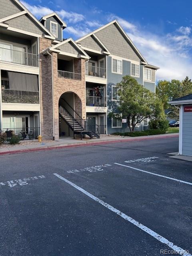
<path fill-rule="evenodd" d="M 88 36 L 91 36 L 92 34 L 102 30 L 103 28 L 106 28 L 108 26 L 110 26 L 111 24 L 116 24 L 116 26 L 120 29 L 120 31 L 122 32 L 122 34 L 124 35 L 124 37 L 126 38 L 126 40 L 128 40 L 128 42 L 132 45 L 132 47 L 134 48 L 134 50 L 137 52 L 138 56 L 140 56 L 140 58 L 142 59 L 142 61 L 144 62 L 144 64 L 147 64 L 145 58 L 142 56 L 142 54 L 139 52 L 138 48 L 134 45 L 134 43 L 132 42 L 132 40 L 130 39 L 130 37 L 126 34 L 126 32 L 123 30 L 122 26 L 119 24 L 119 22 L 117 20 L 113 20 L 112 22 L 109 22 L 108 24 L 94 30 L 93 32 L 79 38 L 78 40 L 76 40 L 76 42 L 80 42 L 81 40 L 83 40 L 84 38 L 87 38 Z"/>

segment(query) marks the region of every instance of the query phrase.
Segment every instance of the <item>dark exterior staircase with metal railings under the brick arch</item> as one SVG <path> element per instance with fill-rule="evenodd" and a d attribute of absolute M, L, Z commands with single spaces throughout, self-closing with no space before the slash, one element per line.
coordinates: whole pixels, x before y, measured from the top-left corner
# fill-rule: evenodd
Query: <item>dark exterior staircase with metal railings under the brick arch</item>
<path fill-rule="evenodd" d="M 99 136 L 99 126 L 94 125 L 94 127 L 93 127 L 92 124 L 90 124 L 87 120 L 82 119 L 75 112 L 75 110 L 73 110 L 73 111 L 77 116 L 76 119 L 72 116 L 72 114 L 70 114 L 68 112 L 68 110 L 66 110 L 66 108 L 64 108 L 62 106 L 59 107 L 59 116 L 71 128 L 71 130 L 74 133 L 74 138 L 75 138 L 75 134 L 80 134 L 81 139 L 82 139 L 82 136 L 84 136 L 84 135 L 88 135 L 88 136 L 90 136 L 90 138 L 92 138 L 92 137 L 100 138 L 100 136 Z M 98 127 L 96 128 L 96 126 L 98 126 Z"/>

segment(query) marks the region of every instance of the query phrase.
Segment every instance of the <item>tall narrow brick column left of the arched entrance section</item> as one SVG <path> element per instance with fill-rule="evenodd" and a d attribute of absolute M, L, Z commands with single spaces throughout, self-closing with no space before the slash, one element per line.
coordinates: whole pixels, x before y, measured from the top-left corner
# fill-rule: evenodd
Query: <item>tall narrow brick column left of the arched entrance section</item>
<path fill-rule="evenodd" d="M 51 56 L 41 52 L 51 46 L 51 40 L 40 38 L 40 99 L 41 99 L 41 134 L 45 139 L 53 139 L 53 104 L 52 104 L 52 61 Z"/>

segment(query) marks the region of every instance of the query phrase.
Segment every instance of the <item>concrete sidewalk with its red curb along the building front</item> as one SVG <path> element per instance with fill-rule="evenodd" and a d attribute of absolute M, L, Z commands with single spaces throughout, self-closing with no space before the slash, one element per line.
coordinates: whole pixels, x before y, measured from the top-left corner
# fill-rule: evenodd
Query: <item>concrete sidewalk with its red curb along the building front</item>
<path fill-rule="evenodd" d="M 77 146 L 91 146 L 91 145 L 117 143 L 117 142 L 132 142 L 137 140 L 171 138 L 171 137 L 178 137 L 178 136 L 179 135 L 175 133 L 139 136 L 139 137 L 125 136 L 124 138 L 122 136 L 101 135 L 100 139 L 92 138 L 92 139 L 74 140 L 73 138 L 60 138 L 59 141 L 52 141 L 52 142 L 45 142 L 45 143 L 43 142 L 39 144 L 29 144 L 29 145 L 22 145 L 22 142 L 21 142 L 20 145 L 0 148 L 0 155 L 34 152 L 34 151 L 42 151 L 42 150 L 53 150 L 53 149 L 69 148 L 69 147 L 77 147 Z"/>

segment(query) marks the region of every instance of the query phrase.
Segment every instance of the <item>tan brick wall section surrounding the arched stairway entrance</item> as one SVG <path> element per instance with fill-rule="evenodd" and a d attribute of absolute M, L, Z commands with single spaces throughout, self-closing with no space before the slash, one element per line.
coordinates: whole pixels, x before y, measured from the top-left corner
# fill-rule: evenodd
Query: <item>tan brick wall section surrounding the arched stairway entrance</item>
<path fill-rule="evenodd" d="M 74 59 L 74 72 L 81 73 L 81 80 L 73 80 L 67 78 L 58 77 L 57 72 L 57 53 L 52 53 L 53 56 L 53 79 L 54 79 L 54 130 L 55 130 L 55 140 L 59 139 L 59 99 L 60 96 L 65 92 L 74 92 L 78 95 L 80 100 L 75 103 L 75 108 L 80 116 L 86 116 L 86 85 L 85 85 L 85 60 L 84 59 Z M 75 97 L 78 99 L 78 97 Z M 81 105 L 82 104 L 82 110 Z M 80 113 L 82 112 L 82 114 Z"/>

